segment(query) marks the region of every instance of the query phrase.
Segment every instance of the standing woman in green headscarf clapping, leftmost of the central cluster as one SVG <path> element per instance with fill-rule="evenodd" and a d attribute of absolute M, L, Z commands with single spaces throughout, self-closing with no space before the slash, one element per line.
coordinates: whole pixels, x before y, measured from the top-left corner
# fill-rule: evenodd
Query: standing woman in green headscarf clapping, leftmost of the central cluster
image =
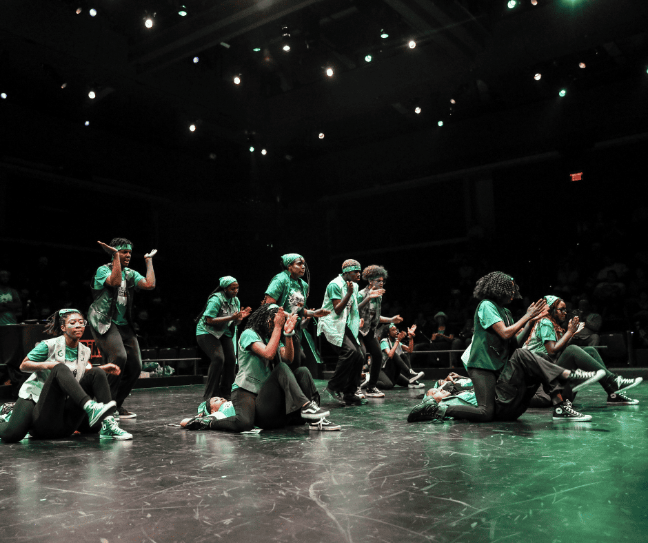
<path fill-rule="evenodd" d="M 221 277 L 219 286 L 209 295 L 196 319 L 196 342 L 211 361 L 203 400 L 216 394 L 229 398 L 232 392 L 236 370 L 236 349 L 232 340 L 236 340 L 236 327 L 252 311 L 250 307 L 241 311 L 237 294 L 239 283 L 236 279 Z"/>

